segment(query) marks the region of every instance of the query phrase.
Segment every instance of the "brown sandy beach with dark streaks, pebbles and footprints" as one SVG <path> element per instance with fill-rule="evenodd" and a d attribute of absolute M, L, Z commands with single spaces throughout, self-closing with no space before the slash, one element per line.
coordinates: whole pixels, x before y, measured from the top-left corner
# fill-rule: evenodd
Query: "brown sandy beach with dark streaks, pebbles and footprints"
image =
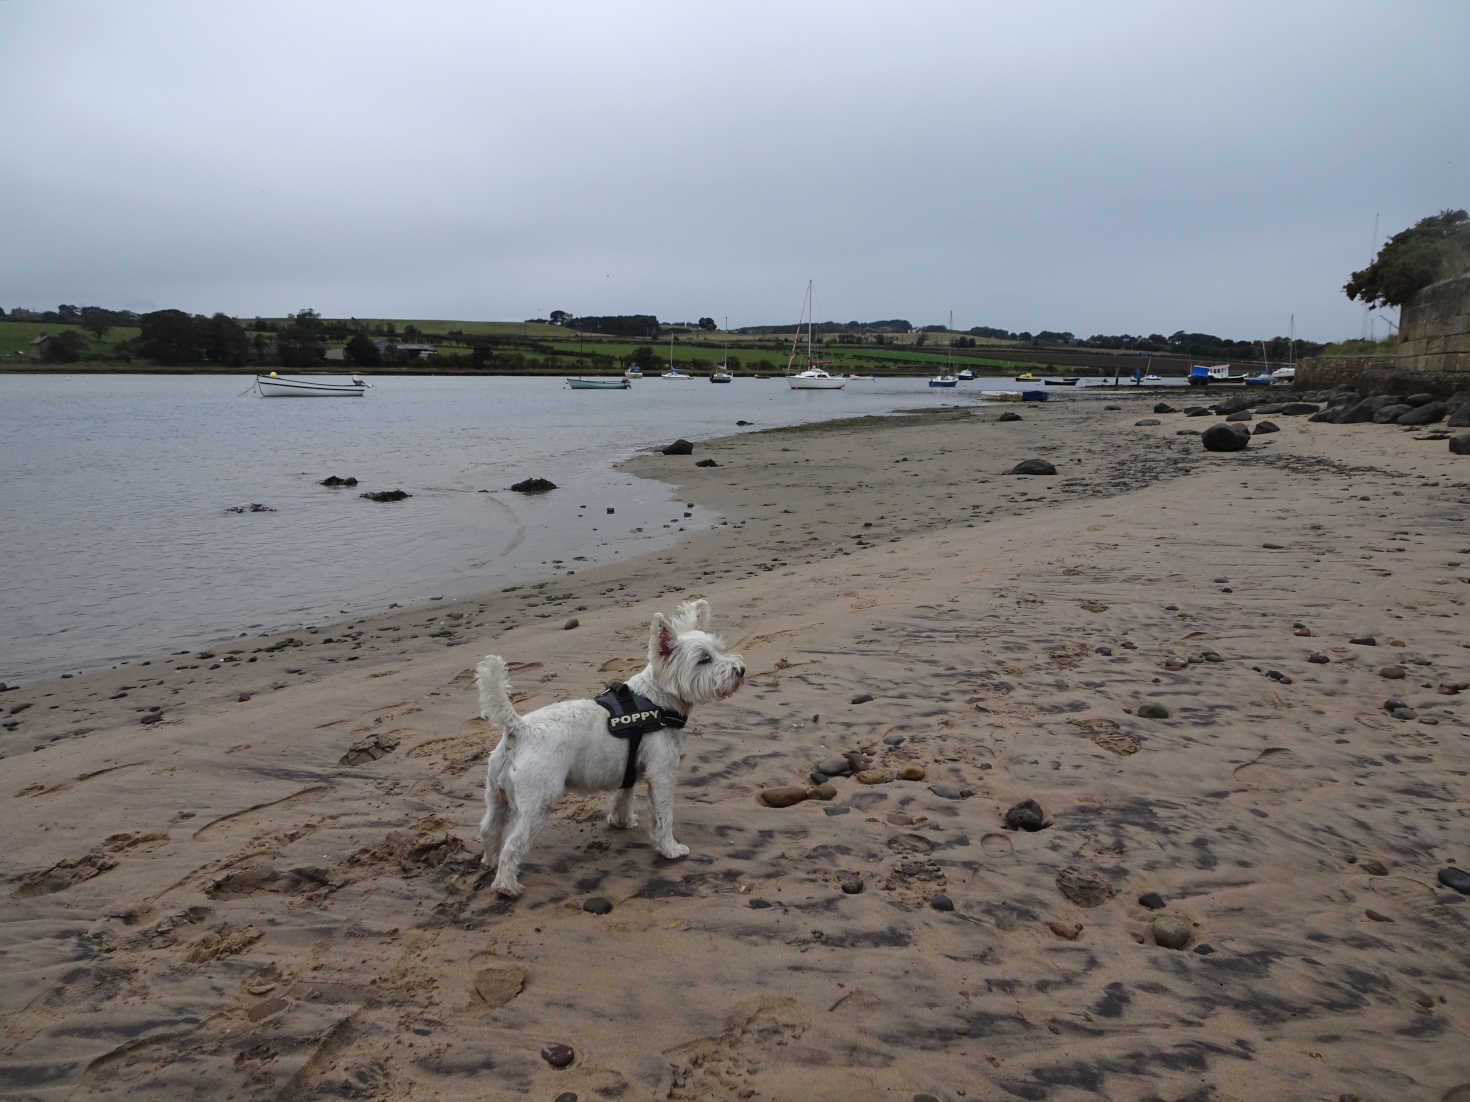
<path fill-rule="evenodd" d="M 641 455 L 722 523 L 0 694 L 0 1096 L 1470 1099 L 1470 458 L 1154 401 Z M 567 796 L 497 899 L 473 664 L 694 597 L 691 855 Z"/>

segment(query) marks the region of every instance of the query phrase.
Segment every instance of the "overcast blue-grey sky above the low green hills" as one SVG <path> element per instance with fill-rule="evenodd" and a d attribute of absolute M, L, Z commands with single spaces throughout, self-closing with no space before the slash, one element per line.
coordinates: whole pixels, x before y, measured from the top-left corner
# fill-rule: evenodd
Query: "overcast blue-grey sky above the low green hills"
<path fill-rule="evenodd" d="M 1470 0 L 0 0 L 0 306 L 1358 336 L 1467 57 Z"/>

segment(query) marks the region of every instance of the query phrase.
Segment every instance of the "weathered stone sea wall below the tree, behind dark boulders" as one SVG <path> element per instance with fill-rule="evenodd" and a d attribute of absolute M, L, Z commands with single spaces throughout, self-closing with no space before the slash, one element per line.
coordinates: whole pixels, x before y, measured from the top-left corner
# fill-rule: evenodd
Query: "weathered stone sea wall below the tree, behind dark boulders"
<path fill-rule="evenodd" d="M 1470 273 L 1432 284 L 1399 314 L 1394 356 L 1317 356 L 1297 366 L 1302 388 L 1448 395 L 1470 389 Z"/>

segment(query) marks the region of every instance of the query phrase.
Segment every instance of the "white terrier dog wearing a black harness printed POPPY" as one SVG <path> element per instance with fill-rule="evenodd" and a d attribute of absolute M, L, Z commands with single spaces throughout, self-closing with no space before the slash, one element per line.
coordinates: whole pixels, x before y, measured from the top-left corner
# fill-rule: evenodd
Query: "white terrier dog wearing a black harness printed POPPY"
<path fill-rule="evenodd" d="M 634 783 L 642 777 L 653 807 L 648 833 L 654 846 L 667 858 L 688 855 L 689 848 L 673 838 L 681 727 L 689 708 L 729 696 L 745 679 L 744 658 L 709 633 L 709 601 L 685 601 L 667 619 L 656 614 L 648 629 L 648 664 L 623 689 L 548 704 L 528 716 L 510 702 L 503 658 L 491 654 L 475 667 L 479 714 L 501 730 L 490 755 L 485 817 L 479 821 L 485 843 L 481 861 L 495 868 L 495 892 L 520 895 L 520 862 L 547 811 L 569 788 L 617 789 L 607 823 L 632 827 Z"/>

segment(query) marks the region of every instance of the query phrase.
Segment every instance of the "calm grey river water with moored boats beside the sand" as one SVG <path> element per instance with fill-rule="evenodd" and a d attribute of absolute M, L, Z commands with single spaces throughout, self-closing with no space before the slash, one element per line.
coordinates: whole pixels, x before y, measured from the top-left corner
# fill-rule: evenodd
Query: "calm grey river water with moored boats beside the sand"
<path fill-rule="evenodd" d="M 745 431 L 736 420 L 756 431 L 1016 388 L 1010 379 L 957 389 L 858 381 L 842 391 L 645 379 L 600 392 L 567 391 L 560 379 L 379 376 L 362 400 L 262 400 L 241 395 L 248 383 L 0 375 L 0 680 L 656 550 L 713 517 L 685 519 L 667 486 L 612 469 L 641 448 Z M 360 485 L 318 485 L 328 475 Z M 532 476 L 560 489 L 507 491 Z M 413 497 L 359 497 L 378 489 Z M 229 511 L 251 503 L 275 511 Z"/>

